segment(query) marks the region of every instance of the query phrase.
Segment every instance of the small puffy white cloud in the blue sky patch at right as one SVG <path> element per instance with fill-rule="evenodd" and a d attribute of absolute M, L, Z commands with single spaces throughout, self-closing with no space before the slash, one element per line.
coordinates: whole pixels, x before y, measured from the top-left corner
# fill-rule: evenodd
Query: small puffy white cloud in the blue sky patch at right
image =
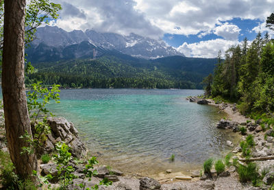
<path fill-rule="evenodd" d="M 240 28 L 236 25 L 224 23 L 214 28 L 214 34 L 222 36 L 225 40 L 237 40 L 240 34 Z"/>

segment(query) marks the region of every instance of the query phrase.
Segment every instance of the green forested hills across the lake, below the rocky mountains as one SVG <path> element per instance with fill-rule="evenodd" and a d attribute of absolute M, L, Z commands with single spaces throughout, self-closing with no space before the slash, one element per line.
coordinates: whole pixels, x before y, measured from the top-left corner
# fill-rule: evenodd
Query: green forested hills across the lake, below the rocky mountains
<path fill-rule="evenodd" d="M 107 51 L 97 59 L 34 63 L 26 84 L 41 80 L 64 88 L 202 88 L 216 59 L 171 56 L 145 60 Z"/>

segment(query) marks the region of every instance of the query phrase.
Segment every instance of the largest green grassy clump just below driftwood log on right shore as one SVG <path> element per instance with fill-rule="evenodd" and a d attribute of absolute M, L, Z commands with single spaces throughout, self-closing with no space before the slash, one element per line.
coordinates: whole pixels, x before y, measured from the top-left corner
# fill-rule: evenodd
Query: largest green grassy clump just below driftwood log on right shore
<path fill-rule="evenodd" d="M 249 163 L 247 166 L 239 165 L 237 172 L 239 174 L 240 182 L 249 182 L 258 180 L 258 171 L 256 163 Z"/>

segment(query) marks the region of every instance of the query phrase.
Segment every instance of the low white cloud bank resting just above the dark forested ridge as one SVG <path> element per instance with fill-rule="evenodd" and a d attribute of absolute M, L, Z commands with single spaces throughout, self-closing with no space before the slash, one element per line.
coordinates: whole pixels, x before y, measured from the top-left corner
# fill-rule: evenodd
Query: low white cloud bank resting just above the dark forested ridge
<path fill-rule="evenodd" d="M 224 53 L 232 45 L 238 45 L 238 41 L 217 38 L 199 43 L 184 43 L 177 50 L 182 52 L 186 57 L 216 58 L 219 50 Z"/>

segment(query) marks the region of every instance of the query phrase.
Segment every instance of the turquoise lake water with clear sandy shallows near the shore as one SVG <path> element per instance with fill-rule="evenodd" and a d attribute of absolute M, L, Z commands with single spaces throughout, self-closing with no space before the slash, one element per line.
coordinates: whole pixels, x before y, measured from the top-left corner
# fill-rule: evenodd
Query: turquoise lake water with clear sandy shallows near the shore
<path fill-rule="evenodd" d="M 219 130 L 214 106 L 186 101 L 198 90 L 70 89 L 61 103 L 50 104 L 57 116 L 72 121 L 91 152 L 105 165 L 129 173 L 156 174 L 165 169 L 199 168 L 222 156 L 236 141 Z M 171 154 L 175 162 L 170 163 Z"/>

